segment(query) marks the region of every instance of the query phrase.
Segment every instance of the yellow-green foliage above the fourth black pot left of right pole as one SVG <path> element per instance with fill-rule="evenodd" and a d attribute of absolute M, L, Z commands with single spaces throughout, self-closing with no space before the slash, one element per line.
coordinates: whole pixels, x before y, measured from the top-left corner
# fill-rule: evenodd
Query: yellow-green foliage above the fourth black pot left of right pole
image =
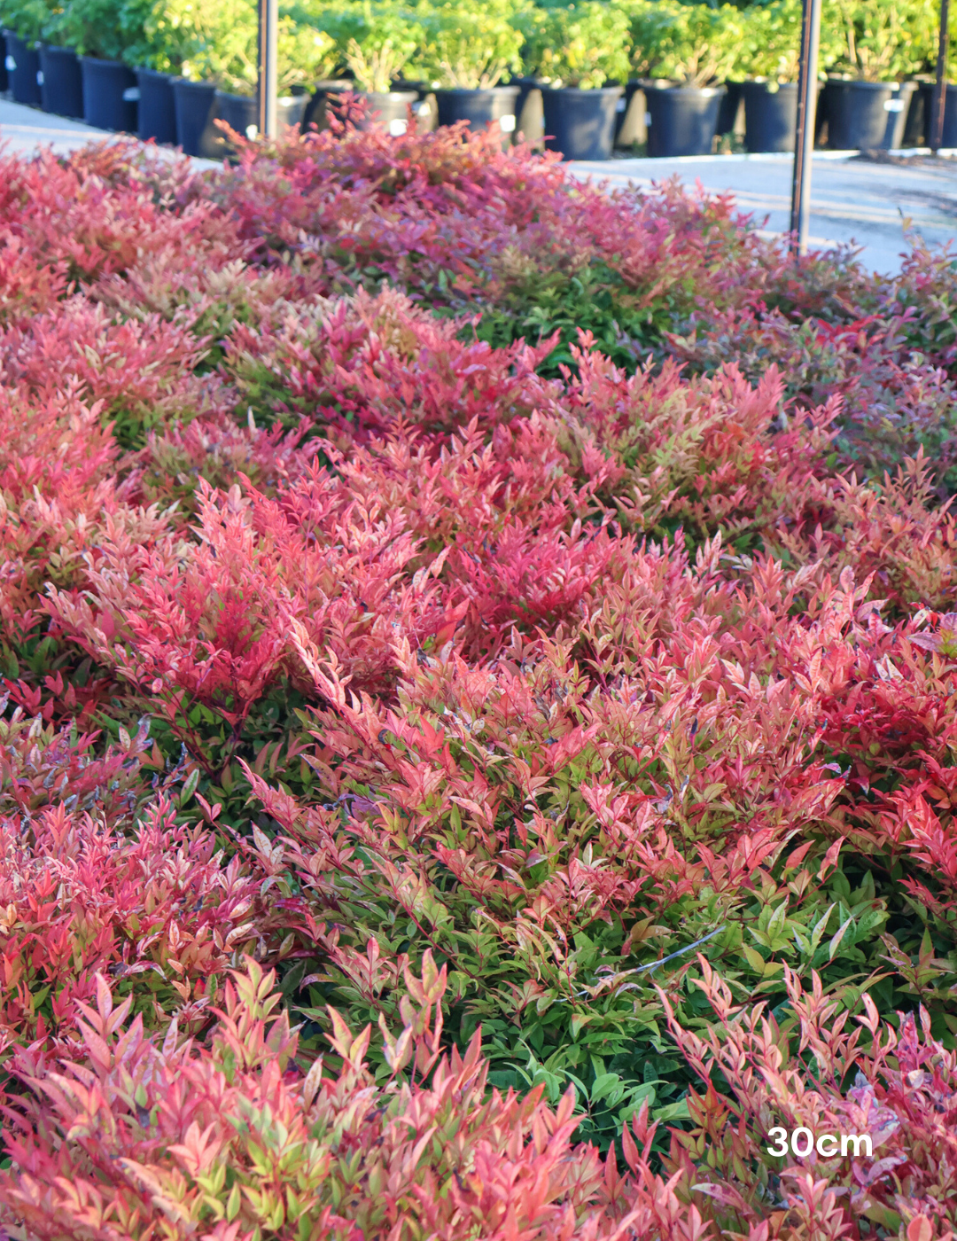
<path fill-rule="evenodd" d="M 423 45 L 412 65 L 416 77 L 436 89 L 489 91 L 520 66 L 523 35 L 510 17 L 509 0 L 418 5 Z"/>

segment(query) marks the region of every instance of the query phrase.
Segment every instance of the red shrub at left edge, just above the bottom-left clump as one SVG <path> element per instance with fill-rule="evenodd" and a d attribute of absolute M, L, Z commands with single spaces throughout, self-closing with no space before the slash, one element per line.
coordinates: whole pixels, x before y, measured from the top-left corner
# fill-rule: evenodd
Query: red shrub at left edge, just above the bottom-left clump
<path fill-rule="evenodd" d="M 76 1001 L 94 995 L 98 972 L 123 993 L 138 979 L 132 999 L 151 1021 L 175 1010 L 202 1025 L 231 953 L 259 933 L 258 884 L 213 853 L 209 834 L 176 823 L 161 798 L 129 834 L 143 737 L 96 759 L 87 737 L 71 748 L 62 733 L 27 736 L 21 725 L 5 738 L 11 753 L 20 745 L 21 766 L 4 762 L 1 791 L 24 812 L 0 817 L 4 1049 L 48 1036 L 57 1055 L 73 1055 Z M 55 798 L 42 787 L 51 778 Z"/>

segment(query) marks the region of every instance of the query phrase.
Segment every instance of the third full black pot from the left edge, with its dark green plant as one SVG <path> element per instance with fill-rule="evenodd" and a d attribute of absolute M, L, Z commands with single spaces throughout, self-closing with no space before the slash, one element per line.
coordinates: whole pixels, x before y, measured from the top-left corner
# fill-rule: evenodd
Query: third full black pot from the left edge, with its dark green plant
<path fill-rule="evenodd" d="M 66 0 L 46 27 L 51 45 L 79 56 L 83 119 L 97 129 L 137 132 L 137 78 L 122 61 L 137 37 L 123 0 Z"/>

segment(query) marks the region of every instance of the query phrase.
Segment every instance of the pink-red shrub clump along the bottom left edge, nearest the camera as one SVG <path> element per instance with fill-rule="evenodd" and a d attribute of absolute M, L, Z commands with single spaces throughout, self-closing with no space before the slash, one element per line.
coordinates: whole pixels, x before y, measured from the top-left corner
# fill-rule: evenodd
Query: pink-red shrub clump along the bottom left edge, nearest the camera
<path fill-rule="evenodd" d="M 156 1209 L 170 1236 L 626 1235 L 631 1216 L 602 1226 L 596 1153 L 570 1145 L 571 1096 L 557 1112 L 537 1093 L 485 1100 L 478 1039 L 464 1057 L 439 1060 L 432 1009 L 446 977 L 431 957 L 421 982 L 408 975 L 420 1006 L 407 1001 L 407 1024 L 390 1037 L 384 1085 L 364 1061 L 369 1029 L 354 1036 L 335 1011 L 341 1069 L 324 1076 L 319 1060 L 300 1075 L 273 982 L 252 961 L 235 973 L 201 1051 L 175 1026 L 163 1047 L 144 1039 L 139 1019 L 128 1024 L 129 999 L 114 1009 L 98 975 L 97 1006 L 78 1016 L 84 1062 L 58 1072 L 52 1059 L 17 1056 L 46 1103 L 9 1111 L 24 1170 L 0 1189 L 7 1210 L 50 1237 L 150 1236 Z M 431 1085 L 395 1080 L 410 1060 L 422 1076 L 436 1066 Z"/>

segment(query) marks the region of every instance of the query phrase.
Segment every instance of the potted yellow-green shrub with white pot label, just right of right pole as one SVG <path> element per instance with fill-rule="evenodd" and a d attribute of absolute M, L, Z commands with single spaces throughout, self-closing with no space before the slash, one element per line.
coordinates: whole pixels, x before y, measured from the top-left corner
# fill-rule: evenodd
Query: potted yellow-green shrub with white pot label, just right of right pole
<path fill-rule="evenodd" d="M 904 12 L 885 0 L 829 0 L 822 27 L 840 30 L 842 47 L 828 57 L 828 145 L 835 150 L 900 146 L 915 91 L 902 81 L 920 69 Z"/>

